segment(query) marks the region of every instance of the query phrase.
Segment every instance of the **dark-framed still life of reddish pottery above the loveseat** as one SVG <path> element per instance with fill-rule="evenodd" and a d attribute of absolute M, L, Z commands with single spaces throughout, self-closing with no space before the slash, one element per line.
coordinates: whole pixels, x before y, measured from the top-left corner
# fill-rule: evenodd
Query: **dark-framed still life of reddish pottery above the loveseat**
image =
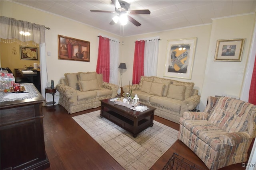
<path fill-rule="evenodd" d="M 58 59 L 90 62 L 90 42 L 58 35 Z"/>

